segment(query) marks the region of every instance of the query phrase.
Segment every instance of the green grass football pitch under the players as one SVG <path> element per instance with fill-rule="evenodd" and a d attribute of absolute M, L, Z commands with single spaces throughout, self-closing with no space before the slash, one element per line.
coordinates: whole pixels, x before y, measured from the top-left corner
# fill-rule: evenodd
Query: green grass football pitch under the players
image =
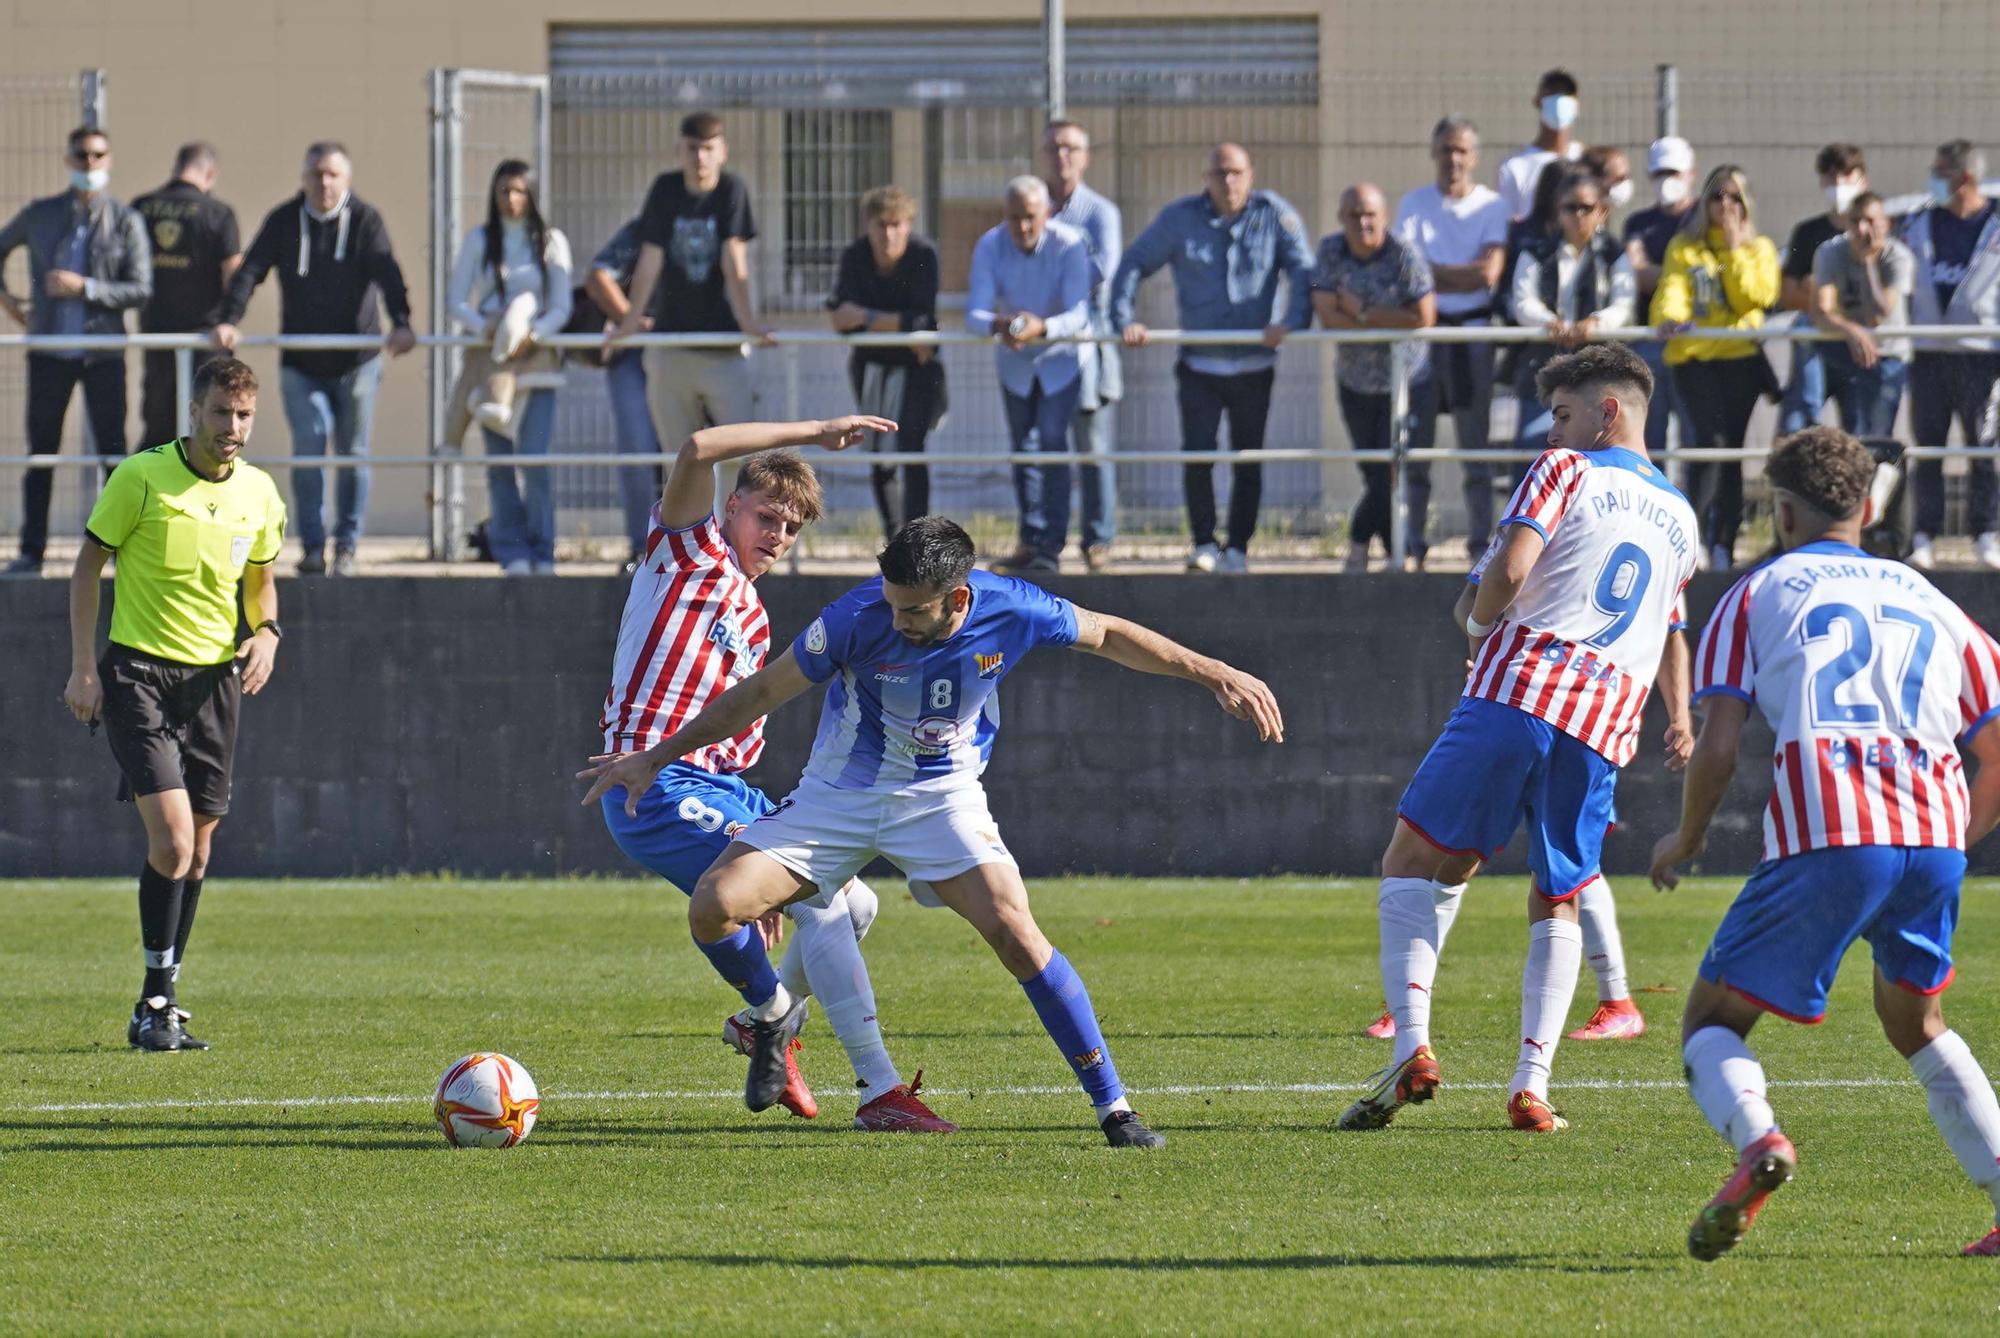
<path fill-rule="evenodd" d="M 1524 880 L 1466 902 L 1444 1090 L 1336 1134 L 1386 1058 L 1374 886 L 1032 888 L 1158 1154 L 1112 1152 L 1020 988 L 884 890 L 890 1052 L 954 1136 L 858 1134 L 822 1020 L 816 1122 L 748 1114 L 732 998 L 656 882 L 216 880 L 182 1002 L 208 1054 L 136 1054 L 128 882 L 6 884 L 0 1328 L 70 1332 L 1972 1332 L 2000 1274 L 1852 956 L 1820 1028 L 1754 1036 L 1798 1180 L 1718 1264 L 1730 1166 L 1680 1084 L 1682 990 L 1734 882 L 1620 886 L 1652 1032 L 1566 1044 L 1560 1136 L 1506 1128 Z M 2000 1066 L 2000 908 L 1966 892 L 1948 1014 Z M 1864 950 L 1862 950 L 1864 952 Z M 1572 1024 L 1594 990 L 1578 984 Z M 456 1152 L 438 1072 L 506 1050 L 534 1136 Z M 1330 1090 L 1322 1090 L 1328 1086 Z M 1804 1086 L 1796 1086 L 1804 1084 Z"/>

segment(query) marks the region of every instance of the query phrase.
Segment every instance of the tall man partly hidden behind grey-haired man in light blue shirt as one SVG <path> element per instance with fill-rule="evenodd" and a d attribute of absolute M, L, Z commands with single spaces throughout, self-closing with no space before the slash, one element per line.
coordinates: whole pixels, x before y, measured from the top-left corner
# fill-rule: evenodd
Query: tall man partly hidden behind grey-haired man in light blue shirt
<path fill-rule="evenodd" d="M 1090 132 L 1074 120 L 1052 120 L 1042 132 L 1042 184 L 1048 186 L 1048 216 L 1084 234 L 1090 246 L 1090 268 L 1096 286 L 1090 290 L 1090 332 L 1110 334 L 1110 278 L 1124 254 L 1124 214 L 1118 206 L 1084 184 L 1090 170 Z M 1094 374 L 1092 374 L 1094 370 Z M 1098 344 L 1094 364 L 1086 364 L 1084 394 L 1076 406 L 1078 448 L 1104 456 L 1116 436 L 1118 396 L 1124 394 L 1124 366 L 1116 344 Z M 1078 470 L 1084 500 L 1084 524 L 1078 542 L 1084 566 L 1104 570 L 1118 536 L 1118 470 L 1114 464 L 1086 464 Z"/>

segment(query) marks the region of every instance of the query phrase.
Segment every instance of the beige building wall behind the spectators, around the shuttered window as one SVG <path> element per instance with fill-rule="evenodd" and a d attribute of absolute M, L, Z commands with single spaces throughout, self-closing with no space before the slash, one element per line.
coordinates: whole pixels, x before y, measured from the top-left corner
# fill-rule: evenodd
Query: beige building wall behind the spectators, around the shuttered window
<path fill-rule="evenodd" d="M 1214 2 L 1072 0 L 1074 20 L 1214 16 Z M 1260 0 L 1244 14 L 1320 16 L 1320 164 L 1316 198 L 1294 194 L 1316 230 L 1332 226 L 1340 186 L 1374 178 L 1392 194 L 1426 178 L 1422 142 L 1436 116 L 1468 112 L 1498 156 L 1534 128 L 1534 74 L 1566 64 L 1584 82 L 1586 136 L 1640 146 L 1652 132 L 1652 68 L 1684 72 L 1682 130 L 1750 146 L 1766 230 L 1810 210 L 1810 146 L 1854 138 L 1878 152 L 1878 182 L 1920 186 L 1924 146 L 1952 134 L 2000 140 L 2000 6 L 1964 0 Z M 926 6 L 924 22 L 1040 18 L 1036 0 Z M 350 144 L 356 190 L 382 208 L 428 318 L 428 86 L 434 66 L 540 72 L 548 28 L 570 24 L 872 22 L 912 14 L 904 0 L 736 0 L 718 12 L 682 0 L 0 0 L 0 76 L 104 68 L 116 136 L 114 190 L 130 198 L 166 176 L 176 144 L 222 150 L 220 194 L 244 224 L 296 188 L 300 148 Z M 48 188 L 62 184 L 50 146 Z M 1708 162 L 1712 156 L 1704 154 Z M 1198 172 L 1190 148 L 1188 176 Z M 750 168 L 750 164 L 738 164 Z M 1284 190 L 1282 182 L 1266 182 Z M 1288 192 L 1290 194 L 1290 192 Z M 1138 224 L 1132 222 L 1132 228 Z M 276 324 L 274 284 L 248 328 Z M 260 370 L 276 364 L 260 350 Z M 424 366 L 388 370 L 378 454 L 424 448 Z M 136 402 L 136 396 L 134 396 Z M 282 418 L 270 412 L 270 418 Z M 282 422 L 264 428 L 266 440 Z M 378 470 L 378 530 L 418 532 L 422 474 Z"/>

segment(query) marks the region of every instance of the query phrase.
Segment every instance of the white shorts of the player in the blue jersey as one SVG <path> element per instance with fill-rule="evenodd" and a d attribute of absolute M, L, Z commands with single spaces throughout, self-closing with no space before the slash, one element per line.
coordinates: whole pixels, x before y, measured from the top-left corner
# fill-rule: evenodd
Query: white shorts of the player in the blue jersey
<path fill-rule="evenodd" d="M 940 904 L 932 882 L 978 864 L 1014 864 L 980 786 L 874 794 L 808 776 L 736 840 L 816 884 L 820 896 L 844 888 L 880 854 L 910 878 L 910 892 L 926 906 Z"/>

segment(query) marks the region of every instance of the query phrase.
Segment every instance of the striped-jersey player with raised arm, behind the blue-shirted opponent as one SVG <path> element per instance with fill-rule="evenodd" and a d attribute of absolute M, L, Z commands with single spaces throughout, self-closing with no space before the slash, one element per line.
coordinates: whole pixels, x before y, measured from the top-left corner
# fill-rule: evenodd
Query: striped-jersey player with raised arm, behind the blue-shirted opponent
<path fill-rule="evenodd" d="M 820 482 L 796 452 L 780 446 L 844 450 L 866 432 L 894 432 L 884 418 L 828 422 L 744 422 L 704 428 L 674 458 L 652 514 L 644 560 L 632 572 L 618 622 L 618 654 L 604 694 L 604 754 L 644 752 L 692 720 L 732 684 L 764 666 L 770 620 L 756 580 L 820 518 Z M 714 514 L 714 468 L 742 458 L 736 488 Z M 626 812 L 622 788 L 602 800 L 618 846 L 682 892 L 750 822 L 770 812 L 762 790 L 740 772 L 764 750 L 764 722 L 664 768 Z M 820 1008 L 854 1064 L 862 1094 L 856 1124 L 880 1130 L 950 1130 L 914 1096 L 882 1046 L 874 988 L 858 940 L 874 920 L 876 894 L 860 880 L 786 908 L 798 944 L 784 958 L 792 994 L 818 994 Z M 772 920 L 770 930 L 778 928 Z M 722 1036 L 744 1054 L 758 1018 L 724 1022 Z M 794 1042 L 796 1044 L 796 1042 Z M 818 1102 L 784 1052 L 784 1068 L 752 1064 L 744 1100 L 752 1110 L 782 1102 L 812 1118 Z"/>

